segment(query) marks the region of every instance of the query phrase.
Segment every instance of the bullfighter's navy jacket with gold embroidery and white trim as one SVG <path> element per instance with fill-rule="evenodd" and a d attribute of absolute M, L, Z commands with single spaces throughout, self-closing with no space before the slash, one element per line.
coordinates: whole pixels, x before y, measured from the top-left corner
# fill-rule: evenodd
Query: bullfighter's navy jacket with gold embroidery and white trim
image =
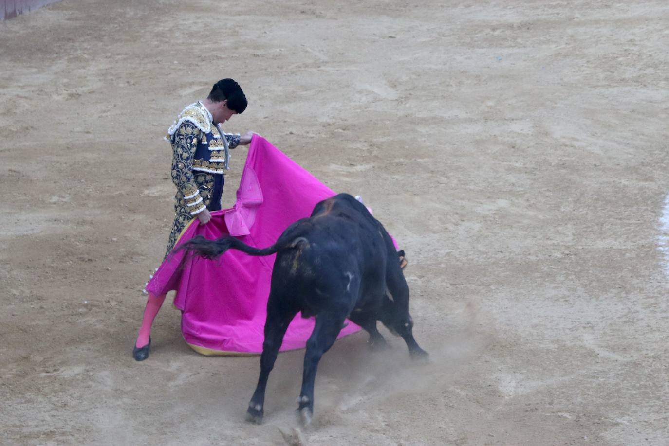
<path fill-rule="evenodd" d="M 239 134 L 223 136 L 229 148 L 240 143 Z M 201 102 L 187 106 L 167 130 L 165 139 L 173 150 L 172 181 L 177 187 L 177 205 L 185 207 L 190 215 L 205 207 L 218 209 L 223 193 L 225 148 L 209 110 Z"/>

